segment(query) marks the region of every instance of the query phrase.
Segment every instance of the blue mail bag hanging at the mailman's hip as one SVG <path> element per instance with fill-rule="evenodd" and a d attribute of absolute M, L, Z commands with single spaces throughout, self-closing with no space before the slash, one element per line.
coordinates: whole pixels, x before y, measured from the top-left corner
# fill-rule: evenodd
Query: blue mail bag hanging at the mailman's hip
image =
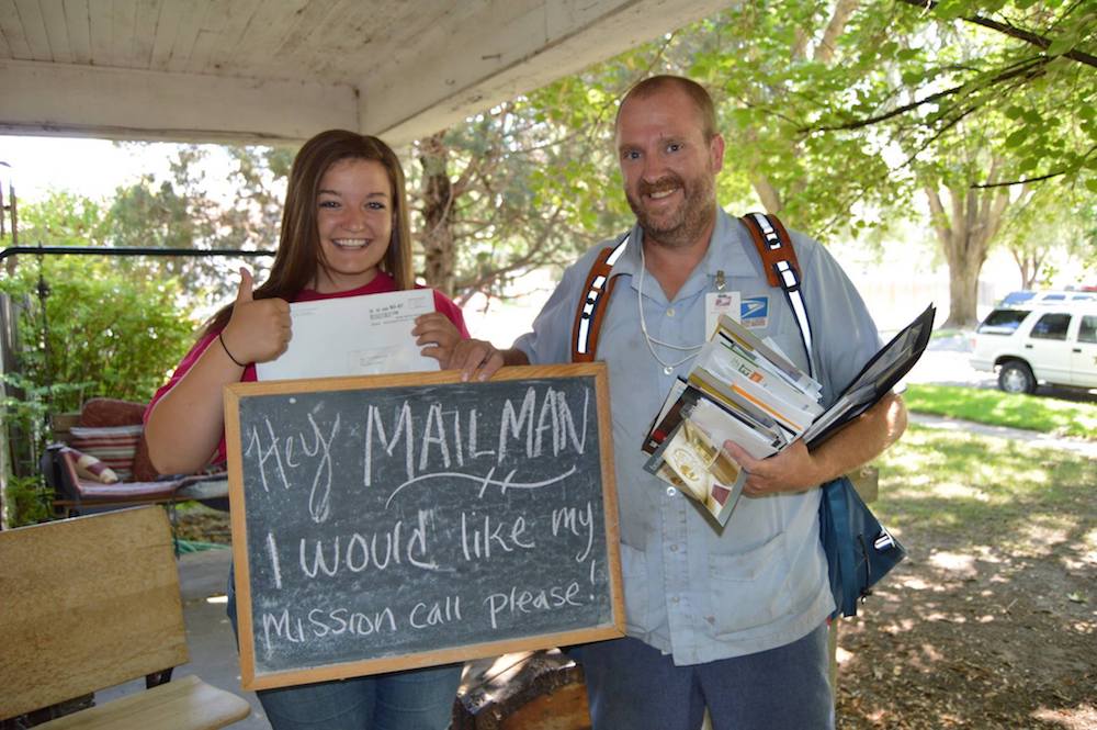
<path fill-rule="evenodd" d="M 906 548 L 880 525 L 847 478 L 821 488 L 819 537 L 837 606 L 830 618 L 857 616 L 858 602 L 906 558 Z"/>

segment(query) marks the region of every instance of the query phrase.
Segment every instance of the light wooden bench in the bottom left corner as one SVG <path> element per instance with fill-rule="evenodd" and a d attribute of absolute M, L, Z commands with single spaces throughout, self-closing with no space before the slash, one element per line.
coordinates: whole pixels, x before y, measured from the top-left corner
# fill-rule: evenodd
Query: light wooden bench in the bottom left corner
<path fill-rule="evenodd" d="M 170 678 L 190 654 L 163 509 L 0 532 L 0 720 Z M 37 727 L 208 730 L 250 712 L 241 697 L 185 676 Z"/>

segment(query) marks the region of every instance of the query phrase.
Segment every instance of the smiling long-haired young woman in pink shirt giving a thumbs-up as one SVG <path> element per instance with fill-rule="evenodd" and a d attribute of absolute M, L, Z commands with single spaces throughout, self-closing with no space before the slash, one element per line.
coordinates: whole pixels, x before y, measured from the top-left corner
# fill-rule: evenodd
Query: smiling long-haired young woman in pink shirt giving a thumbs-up
<path fill-rule="evenodd" d="M 271 276 L 253 288 L 240 270 L 236 301 L 205 326 L 194 348 L 146 412 L 149 457 L 165 474 L 192 473 L 225 460 L 222 388 L 256 380 L 256 362 L 273 360 L 290 337 L 289 302 L 376 294 L 414 287 L 404 171 L 376 137 L 333 130 L 297 153 L 286 190 Z M 412 330 L 422 352 L 446 367 L 467 338 L 461 310 L 434 292 L 436 312 Z M 353 326 L 353 323 L 348 323 Z M 236 602 L 229 581 L 229 616 Z M 445 728 L 460 665 L 259 692 L 274 730 Z"/>

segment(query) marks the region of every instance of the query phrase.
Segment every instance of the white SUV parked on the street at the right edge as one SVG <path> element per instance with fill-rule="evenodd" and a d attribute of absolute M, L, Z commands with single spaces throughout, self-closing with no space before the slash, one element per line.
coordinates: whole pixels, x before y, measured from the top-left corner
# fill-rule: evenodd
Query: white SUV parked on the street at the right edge
<path fill-rule="evenodd" d="M 1097 305 L 994 310 L 975 329 L 971 367 L 997 368 L 998 388 L 1007 393 L 1031 393 L 1039 381 L 1097 388 Z"/>

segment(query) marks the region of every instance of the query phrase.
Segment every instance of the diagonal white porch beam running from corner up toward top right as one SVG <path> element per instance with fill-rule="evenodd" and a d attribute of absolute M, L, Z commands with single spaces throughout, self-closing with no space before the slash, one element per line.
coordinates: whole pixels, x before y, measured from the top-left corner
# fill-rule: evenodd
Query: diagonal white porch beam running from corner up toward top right
<path fill-rule="evenodd" d="M 494 0 L 367 69 L 361 131 L 403 145 L 727 7 L 728 0 Z M 441 35 L 439 35 L 441 34 Z M 434 37 L 438 36 L 438 37 Z"/>

